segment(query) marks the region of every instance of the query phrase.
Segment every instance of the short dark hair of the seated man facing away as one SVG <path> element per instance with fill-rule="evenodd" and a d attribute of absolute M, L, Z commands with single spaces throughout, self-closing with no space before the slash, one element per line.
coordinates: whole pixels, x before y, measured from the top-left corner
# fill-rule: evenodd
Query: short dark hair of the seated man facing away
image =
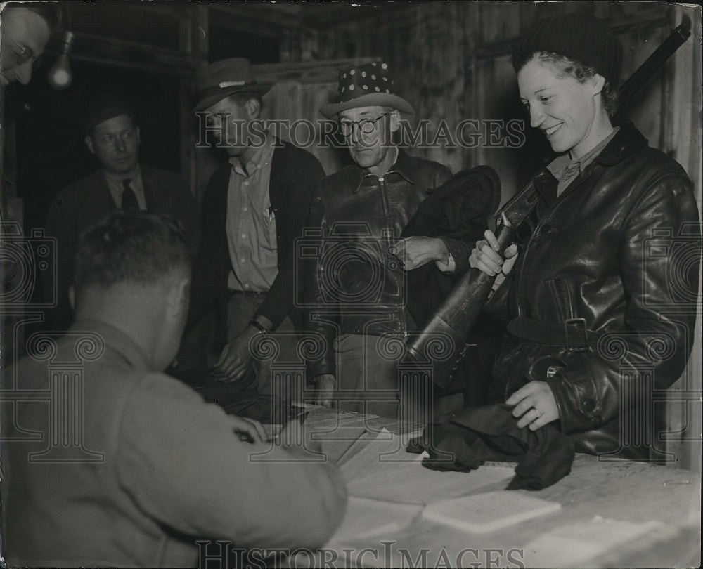
<path fill-rule="evenodd" d="M 73 284 L 108 289 L 120 282 L 157 284 L 174 270 L 188 271 L 186 235 L 167 216 L 116 210 L 81 233 Z"/>

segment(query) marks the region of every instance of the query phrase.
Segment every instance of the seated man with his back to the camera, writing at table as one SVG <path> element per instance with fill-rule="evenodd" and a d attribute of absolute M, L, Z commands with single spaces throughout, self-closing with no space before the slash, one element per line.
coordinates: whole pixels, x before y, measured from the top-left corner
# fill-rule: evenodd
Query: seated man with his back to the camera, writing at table
<path fill-rule="evenodd" d="M 16 377 L 23 391 L 41 396 L 58 379 L 50 379 L 51 366 L 83 354 L 82 440 L 59 449 L 62 461 L 31 462 L 60 438 L 60 426 L 45 401 L 18 405 L 10 435 L 21 436 L 20 425 L 45 436 L 8 444 L 6 558 L 195 567 L 198 539 L 245 549 L 320 547 L 344 515 L 335 466 L 311 460 L 319 457 L 299 443 L 265 443 L 261 425 L 226 415 L 162 373 L 188 315 L 191 261 L 179 225 L 115 211 L 83 233 L 75 267 L 75 324 L 53 344 L 51 361 L 34 353 Z M 91 461 L 97 453 L 102 459 Z"/>

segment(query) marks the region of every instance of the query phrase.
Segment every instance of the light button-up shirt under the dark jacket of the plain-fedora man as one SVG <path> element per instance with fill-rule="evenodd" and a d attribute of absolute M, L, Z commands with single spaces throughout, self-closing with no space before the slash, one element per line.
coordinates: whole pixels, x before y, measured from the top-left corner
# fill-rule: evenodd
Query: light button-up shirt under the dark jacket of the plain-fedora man
<path fill-rule="evenodd" d="M 227 193 L 227 244 L 232 270 L 231 290 L 266 292 L 278 275 L 276 215 L 269 181 L 274 140 L 257 148 L 247 164 L 233 157 Z"/>

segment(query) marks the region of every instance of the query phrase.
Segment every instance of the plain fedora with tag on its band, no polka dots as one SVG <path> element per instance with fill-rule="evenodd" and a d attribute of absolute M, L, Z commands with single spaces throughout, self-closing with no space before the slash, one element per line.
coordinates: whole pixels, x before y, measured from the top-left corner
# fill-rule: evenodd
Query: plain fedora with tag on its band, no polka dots
<path fill-rule="evenodd" d="M 199 70 L 195 82 L 198 87 L 198 104 L 193 108 L 194 112 L 205 110 L 234 93 L 263 95 L 273 86 L 273 83 L 257 83 L 252 64 L 245 58 L 211 63 Z"/>

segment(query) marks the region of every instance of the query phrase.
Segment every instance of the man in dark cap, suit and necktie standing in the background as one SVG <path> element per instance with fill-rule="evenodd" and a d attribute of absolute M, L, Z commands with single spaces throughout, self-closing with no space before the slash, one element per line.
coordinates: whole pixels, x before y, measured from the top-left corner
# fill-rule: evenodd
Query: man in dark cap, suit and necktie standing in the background
<path fill-rule="evenodd" d="M 51 312 L 51 326 L 67 329 L 72 310 L 68 289 L 78 236 L 89 225 L 114 209 L 141 209 L 178 220 L 186 230 L 191 253 L 198 247 L 195 200 L 176 174 L 139 164 L 139 127 L 134 110 L 114 95 L 89 103 L 84 117 L 85 143 L 100 168 L 58 192 L 46 217 L 46 234 L 56 237 L 58 306 Z M 47 290 L 47 296 L 50 296 Z"/>

